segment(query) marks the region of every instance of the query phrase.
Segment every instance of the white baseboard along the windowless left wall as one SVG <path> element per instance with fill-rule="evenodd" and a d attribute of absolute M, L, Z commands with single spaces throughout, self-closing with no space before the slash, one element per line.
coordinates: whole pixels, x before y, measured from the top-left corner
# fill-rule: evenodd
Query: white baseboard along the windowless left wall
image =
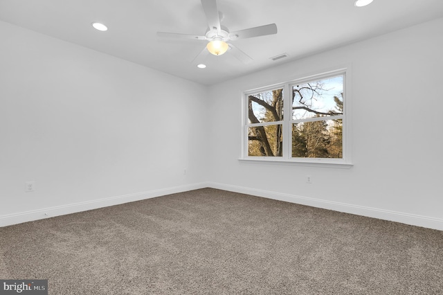
<path fill-rule="evenodd" d="M 30 222 L 34 220 L 42 220 L 49 217 L 66 215 L 71 213 L 78 213 L 87 210 L 103 208 L 107 206 L 114 206 L 129 202 L 140 201 L 142 199 L 150 199 L 153 197 L 161 197 L 163 195 L 170 195 L 174 193 L 183 193 L 188 190 L 197 190 L 199 188 L 207 188 L 206 182 L 198 184 L 188 184 L 185 186 L 175 186 L 172 188 L 163 188 L 159 190 L 150 190 L 147 192 L 134 193 L 129 195 L 120 195 L 115 197 L 107 197 L 104 199 L 96 199 L 89 202 L 80 202 L 75 204 L 68 204 L 64 206 L 55 206 L 50 208 L 43 208 L 34 211 L 26 211 L 10 215 L 0 216 L 0 227 L 12 224 L 19 224 L 23 222 Z"/>

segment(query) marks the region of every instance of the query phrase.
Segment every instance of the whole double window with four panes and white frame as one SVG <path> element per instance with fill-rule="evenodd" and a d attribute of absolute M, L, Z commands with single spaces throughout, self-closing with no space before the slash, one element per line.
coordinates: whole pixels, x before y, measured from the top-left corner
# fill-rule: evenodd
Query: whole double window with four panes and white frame
<path fill-rule="evenodd" d="M 244 93 L 242 159 L 350 164 L 347 69 Z"/>

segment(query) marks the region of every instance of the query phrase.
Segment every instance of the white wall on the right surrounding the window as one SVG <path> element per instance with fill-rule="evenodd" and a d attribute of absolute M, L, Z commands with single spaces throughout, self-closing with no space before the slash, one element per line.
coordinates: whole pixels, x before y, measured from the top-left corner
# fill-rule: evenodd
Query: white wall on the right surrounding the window
<path fill-rule="evenodd" d="M 212 186 L 443 229 L 442 48 L 437 19 L 215 85 Z M 343 64 L 352 64 L 352 168 L 238 161 L 242 91 Z"/>

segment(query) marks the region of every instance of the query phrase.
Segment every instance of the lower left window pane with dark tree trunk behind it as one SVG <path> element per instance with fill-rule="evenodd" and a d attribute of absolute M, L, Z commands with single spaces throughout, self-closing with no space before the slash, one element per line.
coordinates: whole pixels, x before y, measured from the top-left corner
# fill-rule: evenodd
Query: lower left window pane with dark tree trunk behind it
<path fill-rule="evenodd" d="M 248 156 L 282 157 L 282 125 L 248 128 Z"/>

